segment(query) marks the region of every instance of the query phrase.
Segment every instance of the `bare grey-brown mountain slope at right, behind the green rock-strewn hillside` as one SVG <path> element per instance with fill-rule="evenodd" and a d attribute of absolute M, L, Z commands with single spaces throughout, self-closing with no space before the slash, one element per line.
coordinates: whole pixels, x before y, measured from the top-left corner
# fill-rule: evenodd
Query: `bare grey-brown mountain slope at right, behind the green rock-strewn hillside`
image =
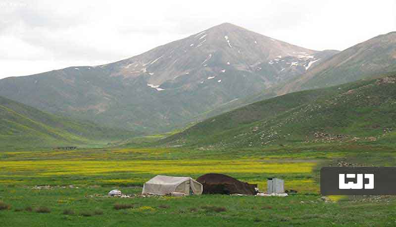
<path fill-rule="evenodd" d="M 374 37 L 320 61 L 311 70 L 204 113 L 197 120 L 291 92 L 330 87 L 396 71 L 396 32 Z"/>

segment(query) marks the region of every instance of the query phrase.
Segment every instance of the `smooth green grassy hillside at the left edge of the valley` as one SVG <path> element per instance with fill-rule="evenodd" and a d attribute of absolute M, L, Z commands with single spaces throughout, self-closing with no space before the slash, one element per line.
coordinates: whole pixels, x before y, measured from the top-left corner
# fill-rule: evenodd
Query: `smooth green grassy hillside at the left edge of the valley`
<path fill-rule="evenodd" d="M 0 97 L 0 149 L 104 143 L 132 135 L 133 132 L 48 114 Z"/>

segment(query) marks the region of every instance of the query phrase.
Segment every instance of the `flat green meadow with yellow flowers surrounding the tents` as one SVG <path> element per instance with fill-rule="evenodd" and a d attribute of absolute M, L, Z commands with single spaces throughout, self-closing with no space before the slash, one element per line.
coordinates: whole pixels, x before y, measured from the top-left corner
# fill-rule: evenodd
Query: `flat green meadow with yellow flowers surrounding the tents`
<path fill-rule="evenodd" d="M 392 143 L 299 143 L 234 150 L 105 148 L 0 153 L 0 226 L 395 226 L 394 197 L 319 194 L 318 170 L 349 162 L 395 166 Z M 229 174 L 266 187 L 285 179 L 288 197 L 201 195 L 107 198 L 111 189 L 139 195 L 156 174 Z M 35 186 L 50 185 L 50 189 Z M 69 185 L 73 185 L 69 187 Z M 115 209 L 125 206 L 126 209 Z M 48 213 L 49 212 L 49 213 Z"/>

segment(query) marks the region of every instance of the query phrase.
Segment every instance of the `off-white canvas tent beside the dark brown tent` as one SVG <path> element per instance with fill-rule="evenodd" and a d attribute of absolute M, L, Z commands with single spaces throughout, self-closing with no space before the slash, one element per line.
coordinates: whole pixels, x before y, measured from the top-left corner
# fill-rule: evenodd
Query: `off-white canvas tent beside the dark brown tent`
<path fill-rule="evenodd" d="M 202 184 L 191 177 L 156 175 L 143 185 L 142 195 L 202 194 Z"/>

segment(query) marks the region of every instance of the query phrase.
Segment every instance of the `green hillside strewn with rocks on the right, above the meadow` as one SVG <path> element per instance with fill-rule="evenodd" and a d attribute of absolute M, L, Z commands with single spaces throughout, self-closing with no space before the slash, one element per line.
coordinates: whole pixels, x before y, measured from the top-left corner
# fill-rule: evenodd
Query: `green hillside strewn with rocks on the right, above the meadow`
<path fill-rule="evenodd" d="M 265 147 L 396 137 L 396 76 L 287 94 L 204 120 L 161 140 L 169 146 Z"/>

